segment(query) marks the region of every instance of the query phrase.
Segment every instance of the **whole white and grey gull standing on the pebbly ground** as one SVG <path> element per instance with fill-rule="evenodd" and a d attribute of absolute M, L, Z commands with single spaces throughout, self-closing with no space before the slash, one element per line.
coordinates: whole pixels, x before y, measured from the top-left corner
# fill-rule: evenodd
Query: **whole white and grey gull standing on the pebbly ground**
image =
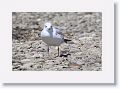
<path fill-rule="evenodd" d="M 64 35 L 62 34 L 62 32 L 59 29 L 54 28 L 51 23 L 44 24 L 44 29 L 41 31 L 41 38 L 43 42 L 45 42 L 48 46 L 48 53 L 49 46 L 58 46 L 58 56 L 60 44 L 70 41 L 68 39 L 64 39 Z"/>

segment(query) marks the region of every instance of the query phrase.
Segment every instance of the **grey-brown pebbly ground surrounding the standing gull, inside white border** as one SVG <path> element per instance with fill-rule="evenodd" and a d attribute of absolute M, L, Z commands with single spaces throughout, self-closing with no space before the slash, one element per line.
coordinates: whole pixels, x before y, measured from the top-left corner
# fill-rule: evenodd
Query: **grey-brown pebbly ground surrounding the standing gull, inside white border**
<path fill-rule="evenodd" d="M 38 36 L 45 22 L 59 28 L 72 42 L 57 49 Z M 13 12 L 13 71 L 101 71 L 102 13 L 100 12 Z"/>

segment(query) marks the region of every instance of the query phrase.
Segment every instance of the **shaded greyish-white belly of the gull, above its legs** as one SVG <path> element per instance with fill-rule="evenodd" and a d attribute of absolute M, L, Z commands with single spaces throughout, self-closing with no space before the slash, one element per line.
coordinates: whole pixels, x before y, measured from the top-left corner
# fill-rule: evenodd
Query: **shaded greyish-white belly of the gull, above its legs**
<path fill-rule="evenodd" d="M 61 38 L 42 37 L 42 40 L 49 46 L 59 46 L 63 43 L 63 39 Z"/>

